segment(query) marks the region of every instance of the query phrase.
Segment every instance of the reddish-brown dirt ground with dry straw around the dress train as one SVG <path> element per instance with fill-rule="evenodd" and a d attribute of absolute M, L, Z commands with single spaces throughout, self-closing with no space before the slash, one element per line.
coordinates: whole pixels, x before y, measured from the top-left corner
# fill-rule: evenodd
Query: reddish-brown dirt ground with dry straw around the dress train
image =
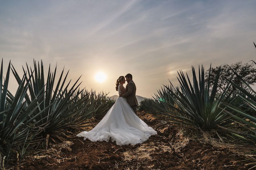
<path fill-rule="evenodd" d="M 159 120 L 139 112 L 149 126 L 157 130 L 146 142 L 135 146 L 118 146 L 115 142 L 91 142 L 77 138 L 53 146 L 56 154 L 27 157 L 18 170 L 99 170 L 99 169 L 248 169 L 245 159 L 224 146 L 203 144 L 186 137 L 175 126 L 159 127 Z M 92 129 L 97 122 L 92 123 Z M 76 132 L 77 133 L 77 132 Z M 75 134 L 73 136 L 75 136 Z M 50 151 L 48 152 L 50 153 Z"/>

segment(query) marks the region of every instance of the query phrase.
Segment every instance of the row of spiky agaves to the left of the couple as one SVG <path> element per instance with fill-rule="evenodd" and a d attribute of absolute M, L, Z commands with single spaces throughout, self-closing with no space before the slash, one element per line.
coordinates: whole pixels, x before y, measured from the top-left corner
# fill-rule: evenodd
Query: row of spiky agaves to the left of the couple
<path fill-rule="evenodd" d="M 44 80 L 44 67 L 41 71 L 34 61 L 34 70 L 26 65 L 23 76 L 19 76 L 11 61 L 3 83 L 3 60 L 1 64 L 0 82 L 0 169 L 4 161 L 13 155 L 23 158 L 28 148 L 48 147 L 49 141 L 63 140 L 68 137 L 67 129 L 77 129 L 91 117 L 101 117 L 112 106 L 113 101 L 105 93 L 80 90 L 78 81 L 69 88 L 71 80 L 65 85 L 64 69 L 54 88 L 54 73 L 48 70 Z M 19 87 L 15 95 L 8 90 L 10 71 L 13 72 Z M 28 75 L 27 75 L 28 74 Z M 69 88 L 69 89 L 68 89 Z"/>

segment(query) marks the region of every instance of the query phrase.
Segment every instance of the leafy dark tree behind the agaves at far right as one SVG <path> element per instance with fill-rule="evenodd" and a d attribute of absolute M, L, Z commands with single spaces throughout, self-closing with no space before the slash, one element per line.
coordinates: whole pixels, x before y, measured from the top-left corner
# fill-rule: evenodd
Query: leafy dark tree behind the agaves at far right
<path fill-rule="evenodd" d="M 210 69 L 208 69 L 206 71 L 206 77 L 205 77 L 205 84 L 207 85 L 208 82 L 208 78 L 210 76 L 210 88 L 213 86 L 214 84 L 214 80 L 215 77 L 218 73 L 218 69 L 220 66 L 215 67 L 215 68 L 211 68 L 211 74 L 209 75 L 209 71 Z M 218 93 L 223 92 L 224 88 L 226 87 L 226 85 L 228 84 L 228 81 L 226 80 L 226 78 L 231 79 L 233 76 L 233 71 L 230 69 L 230 67 L 239 75 L 243 78 L 243 80 L 245 80 L 245 82 L 247 82 L 247 84 L 249 85 L 253 85 L 256 82 L 256 68 L 253 66 L 253 64 L 249 64 L 249 63 L 242 63 L 241 61 L 233 63 L 231 65 L 223 64 L 221 66 L 220 69 L 220 78 L 218 81 Z M 232 81 L 236 84 L 238 84 L 239 86 L 243 87 L 244 89 L 248 89 L 239 78 L 237 78 L 237 76 L 233 76 Z M 233 87 L 232 90 L 234 90 L 235 88 Z"/>

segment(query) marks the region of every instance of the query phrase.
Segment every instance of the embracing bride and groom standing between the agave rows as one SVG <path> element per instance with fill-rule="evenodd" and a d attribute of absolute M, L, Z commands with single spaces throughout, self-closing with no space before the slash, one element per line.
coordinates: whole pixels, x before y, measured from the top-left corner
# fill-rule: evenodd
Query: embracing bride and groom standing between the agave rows
<path fill-rule="evenodd" d="M 126 88 L 123 84 L 127 81 Z M 108 110 L 103 119 L 90 131 L 79 133 L 90 141 L 116 141 L 117 145 L 136 145 L 143 143 L 157 132 L 149 127 L 137 115 L 138 101 L 136 99 L 136 86 L 132 75 L 120 76 L 116 81 L 116 91 L 119 97 Z"/>

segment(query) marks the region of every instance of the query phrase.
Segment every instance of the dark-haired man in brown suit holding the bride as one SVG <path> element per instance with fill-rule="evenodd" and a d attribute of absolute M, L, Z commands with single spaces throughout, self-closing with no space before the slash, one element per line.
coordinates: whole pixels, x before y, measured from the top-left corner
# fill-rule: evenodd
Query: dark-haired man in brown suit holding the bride
<path fill-rule="evenodd" d="M 138 101 L 136 98 L 136 86 L 132 81 L 132 75 L 129 73 L 125 76 L 127 84 L 125 88 L 125 93 L 120 94 L 119 97 L 126 97 L 127 103 L 132 107 L 132 110 L 137 114 Z"/>

